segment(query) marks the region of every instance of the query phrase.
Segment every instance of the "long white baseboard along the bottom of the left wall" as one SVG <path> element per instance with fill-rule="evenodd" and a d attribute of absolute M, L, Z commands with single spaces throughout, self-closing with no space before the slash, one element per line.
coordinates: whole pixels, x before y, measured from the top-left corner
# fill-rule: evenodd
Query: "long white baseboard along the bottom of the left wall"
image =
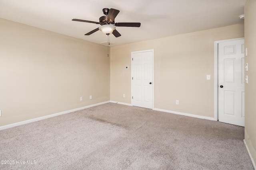
<path fill-rule="evenodd" d="M 102 103 L 98 103 L 98 104 L 92 104 L 92 105 L 90 105 L 90 106 L 84 106 L 84 107 L 80 107 L 80 108 L 76 108 L 76 109 L 71 109 L 71 110 L 67 110 L 67 111 L 62 111 L 62 112 L 59 112 L 59 113 L 54 113 L 54 114 L 47 115 L 47 116 L 42 116 L 42 117 L 38 117 L 38 118 L 34 118 L 34 119 L 29 119 L 29 120 L 25 120 L 25 121 L 20 121 L 20 122 L 17 122 L 17 123 L 12 123 L 12 124 L 10 124 L 10 125 L 0 126 L 0 130 L 8 129 L 8 128 L 15 127 L 15 126 L 19 126 L 19 125 L 24 125 L 24 124 L 27 124 L 27 123 L 32 123 L 32 122 L 35 122 L 35 121 L 47 119 L 47 118 L 54 117 L 54 116 L 58 116 L 58 115 L 63 115 L 63 114 L 66 114 L 66 113 L 71 113 L 71 112 L 78 111 L 78 110 L 82 110 L 82 109 L 87 109 L 87 108 L 89 108 L 89 107 L 98 106 L 98 105 L 106 104 L 106 103 L 109 103 L 109 102 L 110 102 L 110 101 L 102 102 Z"/>

